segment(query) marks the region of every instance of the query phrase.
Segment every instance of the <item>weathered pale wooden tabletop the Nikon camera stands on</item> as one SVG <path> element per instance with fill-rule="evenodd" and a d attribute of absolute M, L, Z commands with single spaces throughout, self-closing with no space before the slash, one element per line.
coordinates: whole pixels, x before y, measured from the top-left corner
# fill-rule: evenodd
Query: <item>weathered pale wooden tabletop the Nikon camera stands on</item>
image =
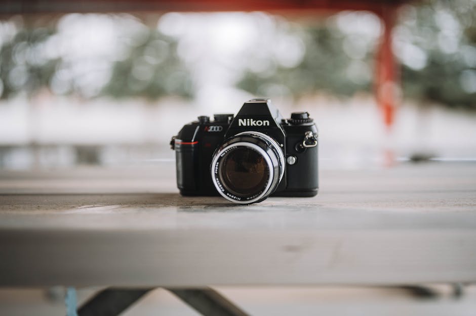
<path fill-rule="evenodd" d="M 476 164 L 323 170 L 314 198 L 250 206 L 174 172 L 0 172 L 0 286 L 476 281 Z"/>

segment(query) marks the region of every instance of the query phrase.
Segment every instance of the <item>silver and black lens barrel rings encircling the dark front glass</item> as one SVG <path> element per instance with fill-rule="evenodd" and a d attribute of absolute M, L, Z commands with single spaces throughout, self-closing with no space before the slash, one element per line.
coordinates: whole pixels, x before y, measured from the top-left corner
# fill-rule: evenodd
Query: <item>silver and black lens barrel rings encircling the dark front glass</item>
<path fill-rule="evenodd" d="M 249 195 L 248 193 L 243 193 L 242 195 L 239 190 L 230 189 L 229 179 L 223 179 L 223 174 L 226 174 L 224 170 L 226 163 L 224 161 L 227 158 L 225 157 L 233 155 L 233 151 L 244 148 L 252 150 L 263 157 L 268 171 L 267 178 L 263 177 L 263 180 L 266 180 L 263 183 L 263 187 Z M 254 131 L 242 132 L 226 140 L 217 149 L 212 159 L 210 171 L 212 182 L 221 196 L 235 203 L 251 204 L 264 200 L 269 194 L 274 192 L 277 185 L 281 182 L 284 175 L 284 154 L 277 142 L 269 136 Z"/>

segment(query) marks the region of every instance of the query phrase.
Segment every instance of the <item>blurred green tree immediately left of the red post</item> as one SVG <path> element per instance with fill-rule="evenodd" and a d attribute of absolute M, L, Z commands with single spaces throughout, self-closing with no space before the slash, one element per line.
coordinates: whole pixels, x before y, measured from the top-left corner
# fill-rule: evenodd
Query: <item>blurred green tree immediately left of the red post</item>
<path fill-rule="evenodd" d="M 299 32 L 305 45 L 305 54 L 295 67 L 277 66 L 256 72 L 249 68 L 237 82 L 237 87 L 254 95 L 275 94 L 273 87 L 286 87 L 292 97 L 326 91 L 330 94 L 350 96 L 356 91 L 370 89 L 372 53 L 362 59 L 352 59 L 342 49 L 346 37 L 326 24 L 312 25 Z M 365 61 L 365 63 L 363 63 Z M 354 73 L 358 72 L 358 73 Z"/>

